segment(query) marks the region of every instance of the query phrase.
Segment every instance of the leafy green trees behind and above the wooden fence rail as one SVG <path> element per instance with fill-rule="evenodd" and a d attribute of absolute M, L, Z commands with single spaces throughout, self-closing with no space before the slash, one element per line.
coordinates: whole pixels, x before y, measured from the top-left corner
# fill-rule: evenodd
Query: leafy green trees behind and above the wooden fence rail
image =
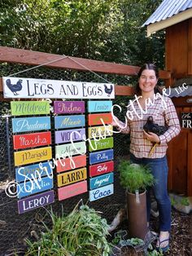
<path fill-rule="evenodd" d="M 0 44 L 33 51 L 164 68 L 164 32 L 142 24 L 161 0 L 6 0 Z M 129 82 L 128 82 L 129 83 Z"/>

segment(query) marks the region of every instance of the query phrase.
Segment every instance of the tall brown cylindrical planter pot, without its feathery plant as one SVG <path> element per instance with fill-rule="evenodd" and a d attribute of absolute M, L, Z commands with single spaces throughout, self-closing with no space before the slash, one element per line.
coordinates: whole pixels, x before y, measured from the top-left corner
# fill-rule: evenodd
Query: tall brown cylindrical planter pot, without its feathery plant
<path fill-rule="evenodd" d="M 130 236 L 144 240 L 147 233 L 146 192 L 137 196 L 127 192 L 126 196 Z"/>

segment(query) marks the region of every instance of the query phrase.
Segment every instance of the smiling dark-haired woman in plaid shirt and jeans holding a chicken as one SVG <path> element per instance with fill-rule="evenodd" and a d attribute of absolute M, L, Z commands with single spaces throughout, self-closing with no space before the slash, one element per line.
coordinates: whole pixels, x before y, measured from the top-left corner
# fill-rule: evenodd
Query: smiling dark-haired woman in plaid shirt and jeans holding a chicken
<path fill-rule="evenodd" d="M 123 133 L 130 133 L 130 161 L 147 165 L 155 176 L 153 187 L 159 208 L 159 241 L 157 247 L 163 251 L 169 249 L 171 230 L 171 203 L 167 192 L 168 163 L 166 158 L 167 143 L 177 136 L 181 130 L 176 109 L 172 100 L 157 92 L 158 70 L 154 64 L 144 64 L 138 73 L 136 99 L 128 105 L 127 120 L 124 125 L 117 117 L 113 117 L 112 125 Z M 164 135 L 156 135 L 143 130 L 147 117 L 152 116 L 156 124 L 168 126 Z M 153 145 L 154 151 L 151 151 Z M 150 191 L 146 193 L 147 221 L 151 213 Z"/>

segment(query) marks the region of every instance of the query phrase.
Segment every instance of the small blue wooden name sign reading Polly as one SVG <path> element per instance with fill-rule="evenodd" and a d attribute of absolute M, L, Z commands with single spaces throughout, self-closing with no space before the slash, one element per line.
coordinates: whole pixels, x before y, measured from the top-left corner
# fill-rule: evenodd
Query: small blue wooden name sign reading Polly
<path fill-rule="evenodd" d="M 113 149 L 93 152 L 89 154 L 89 164 L 93 165 L 103 161 L 110 161 L 113 159 Z"/>

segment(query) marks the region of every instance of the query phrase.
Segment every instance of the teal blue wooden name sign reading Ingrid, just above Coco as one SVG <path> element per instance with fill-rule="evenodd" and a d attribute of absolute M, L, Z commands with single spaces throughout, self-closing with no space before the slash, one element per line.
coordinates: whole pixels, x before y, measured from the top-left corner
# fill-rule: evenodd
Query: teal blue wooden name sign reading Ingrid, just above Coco
<path fill-rule="evenodd" d="M 104 174 L 104 175 L 100 175 L 95 178 L 89 179 L 90 189 L 100 188 L 100 187 L 106 186 L 107 184 L 113 183 L 113 180 L 114 180 L 113 176 L 114 174 L 110 173 L 110 174 Z"/>

